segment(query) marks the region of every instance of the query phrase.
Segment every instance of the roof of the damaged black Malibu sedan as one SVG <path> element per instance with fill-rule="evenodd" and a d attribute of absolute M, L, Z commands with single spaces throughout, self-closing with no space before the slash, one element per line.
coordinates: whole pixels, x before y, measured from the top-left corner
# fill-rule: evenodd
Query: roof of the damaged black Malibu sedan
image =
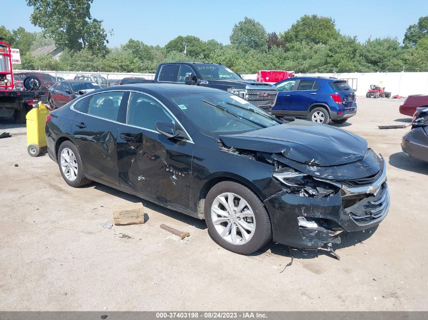
<path fill-rule="evenodd" d="M 209 88 L 199 85 L 175 84 L 175 83 L 132 83 L 121 86 L 110 86 L 99 90 L 98 92 L 109 90 L 136 90 L 145 93 L 155 92 L 161 95 L 185 95 L 202 93 L 226 93 L 224 90 Z"/>

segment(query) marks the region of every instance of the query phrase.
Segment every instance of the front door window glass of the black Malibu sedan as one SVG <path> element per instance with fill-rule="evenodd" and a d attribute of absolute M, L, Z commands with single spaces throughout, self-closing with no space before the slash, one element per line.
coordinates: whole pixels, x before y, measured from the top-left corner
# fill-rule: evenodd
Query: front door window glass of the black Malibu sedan
<path fill-rule="evenodd" d="M 132 92 L 129 98 L 126 123 L 145 129 L 156 130 L 157 121 L 175 123 L 174 118 L 158 101 L 146 95 Z"/>

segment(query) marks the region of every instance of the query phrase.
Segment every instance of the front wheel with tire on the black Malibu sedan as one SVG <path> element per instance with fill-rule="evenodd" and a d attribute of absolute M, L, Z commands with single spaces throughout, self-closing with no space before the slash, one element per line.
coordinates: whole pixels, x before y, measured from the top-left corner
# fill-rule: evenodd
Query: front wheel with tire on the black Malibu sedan
<path fill-rule="evenodd" d="M 228 206 L 229 195 L 234 197 L 232 208 Z M 204 212 L 210 235 L 229 251 L 250 254 L 272 238 L 269 216 L 263 203 L 251 190 L 237 182 L 222 181 L 215 185 L 205 199 Z M 222 232 L 225 232 L 224 236 Z"/>

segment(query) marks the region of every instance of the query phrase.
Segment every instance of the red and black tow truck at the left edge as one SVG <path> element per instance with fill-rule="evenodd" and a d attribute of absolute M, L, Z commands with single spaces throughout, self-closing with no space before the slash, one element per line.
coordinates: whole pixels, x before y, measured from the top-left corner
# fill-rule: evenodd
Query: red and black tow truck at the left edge
<path fill-rule="evenodd" d="M 24 89 L 16 88 L 13 78 L 11 47 L 0 42 L 0 119 L 13 117 L 15 123 L 25 123 L 25 116 L 48 92 L 40 91 L 32 83 L 38 79 L 28 76 Z"/>

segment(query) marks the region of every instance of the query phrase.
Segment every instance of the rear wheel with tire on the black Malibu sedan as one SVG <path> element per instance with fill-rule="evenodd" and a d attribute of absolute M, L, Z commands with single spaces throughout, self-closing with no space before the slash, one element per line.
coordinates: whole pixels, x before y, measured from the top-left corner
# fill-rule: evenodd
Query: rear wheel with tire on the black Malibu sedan
<path fill-rule="evenodd" d="M 77 188 L 91 183 L 91 180 L 83 172 L 83 163 L 79 150 L 71 141 L 64 141 L 59 146 L 57 159 L 59 171 L 67 185 Z"/>

